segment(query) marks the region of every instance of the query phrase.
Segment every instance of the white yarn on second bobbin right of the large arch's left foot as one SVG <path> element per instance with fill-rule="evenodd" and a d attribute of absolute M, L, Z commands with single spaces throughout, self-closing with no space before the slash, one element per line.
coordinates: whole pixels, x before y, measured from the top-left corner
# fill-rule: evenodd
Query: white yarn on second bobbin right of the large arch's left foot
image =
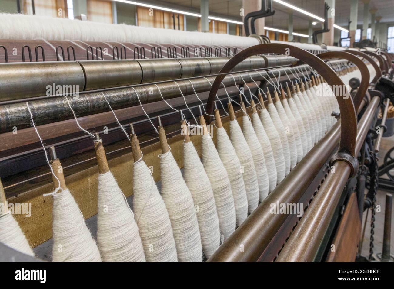
<path fill-rule="evenodd" d="M 237 120 L 230 120 L 230 140 L 243 168 L 242 177 L 245 183 L 248 209 L 251 213 L 258 206 L 260 193 L 252 153 Z"/>

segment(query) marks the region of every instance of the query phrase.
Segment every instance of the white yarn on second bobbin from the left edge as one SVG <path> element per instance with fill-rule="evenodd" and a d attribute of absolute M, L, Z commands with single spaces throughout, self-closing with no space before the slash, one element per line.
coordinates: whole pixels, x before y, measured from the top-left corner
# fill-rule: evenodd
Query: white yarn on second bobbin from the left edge
<path fill-rule="evenodd" d="M 53 262 L 101 262 L 84 217 L 68 189 L 53 195 Z"/>

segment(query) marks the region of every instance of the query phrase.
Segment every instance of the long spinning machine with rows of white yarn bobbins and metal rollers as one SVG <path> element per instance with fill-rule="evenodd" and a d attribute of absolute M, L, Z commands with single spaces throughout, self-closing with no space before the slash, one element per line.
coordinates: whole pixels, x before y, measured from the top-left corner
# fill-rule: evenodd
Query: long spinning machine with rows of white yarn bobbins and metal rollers
<path fill-rule="evenodd" d="M 2 35 L 2 260 L 355 261 L 392 54 L 119 27 Z"/>

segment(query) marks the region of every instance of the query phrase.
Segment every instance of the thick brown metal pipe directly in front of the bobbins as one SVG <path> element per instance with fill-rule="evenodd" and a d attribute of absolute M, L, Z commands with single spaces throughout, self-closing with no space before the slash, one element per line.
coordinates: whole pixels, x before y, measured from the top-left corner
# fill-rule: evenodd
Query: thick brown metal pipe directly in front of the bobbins
<path fill-rule="evenodd" d="M 338 121 L 306 156 L 290 171 L 286 178 L 253 211 L 235 232 L 208 259 L 217 261 L 257 261 L 288 214 L 271 214 L 270 205 L 296 203 L 320 171 L 336 146 L 340 135 Z M 241 252 L 240 245 L 245 248 Z"/>

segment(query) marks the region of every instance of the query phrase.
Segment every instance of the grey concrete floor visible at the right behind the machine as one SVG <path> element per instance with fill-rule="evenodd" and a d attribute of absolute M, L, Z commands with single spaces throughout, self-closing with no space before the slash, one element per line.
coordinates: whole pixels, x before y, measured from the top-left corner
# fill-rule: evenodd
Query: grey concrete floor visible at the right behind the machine
<path fill-rule="evenodd" d="M 382 139 L 381 148 L 379 152 L 379 166 L 383 164 L 384 157 L 387 151 L 394 146 L 394 136 L 390 136 Z M 392 173 L 394 175 L 394 172 Z M 385 222 L 385 206 L 386 206 L 386 194 L 394 194 L 394 191 L 383 191 L 378 190 L 376 195 L 376 205 L 381 207 L 381 212 L 375 214 L 375 234 L 374 234 L 374 253 L 381 253 L 383 247 L 383 228 Z M 364 212 L 362 219 L 362 228 L 365 223 L 366 212 Z M 392 219 L 392 217 L 391 217 Z M 391 254 L 394 254 L 394 221 L 391 221 Z M 362 243 L 362 256 L 369 256 L 369 245 L 370 245 L 370 232 L 371 232 L 371 211 L 368 213 L 368 219 L 365 228 L 365 234 Z"/>

